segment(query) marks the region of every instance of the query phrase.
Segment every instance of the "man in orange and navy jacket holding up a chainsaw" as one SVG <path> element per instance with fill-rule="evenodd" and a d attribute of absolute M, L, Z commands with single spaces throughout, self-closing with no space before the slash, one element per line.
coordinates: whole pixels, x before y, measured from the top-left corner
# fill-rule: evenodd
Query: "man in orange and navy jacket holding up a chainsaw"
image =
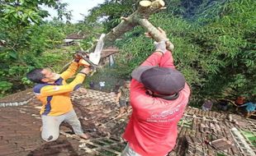
<path fill-rule="evenodd" d="M 78 70 L 79 60 L 79 58 L 74 59 L 69 68 L 60 75 L 47 69 L 38 68 L 26 75 L 29 80 L 37 83 L 34 87 L 34 94 L 43 104 L 40 110 L 43 124 L 41 137 L 47 142 L 58 139 L 61 122 L 68 122 L 76 135 L 88 139 L 88 135 L 83 133 L 82 126 L 73 110 L 70 92 L 82 85 L 90 68 L 84 67 L 72 82 L 66 83 L 66 80 Z"/>

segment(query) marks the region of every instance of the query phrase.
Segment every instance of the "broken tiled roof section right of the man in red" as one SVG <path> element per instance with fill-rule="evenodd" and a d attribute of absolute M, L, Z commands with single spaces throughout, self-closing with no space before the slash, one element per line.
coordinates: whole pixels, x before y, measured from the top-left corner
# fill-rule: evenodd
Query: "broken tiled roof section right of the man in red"
<path fill-rule="evenodd" d="M 179 125 L 178 144 L 173 151 L 177 155 L 256 154 L 256 147 L 242 135 L 242 131 L 251 131 L 256 136 L 256 121 L 253 119 L 187 108 Z M 234 129 L 238 130 L 240 138 L 235 137 Z M 184 146 L 187 146 L 185 152 Z"/>

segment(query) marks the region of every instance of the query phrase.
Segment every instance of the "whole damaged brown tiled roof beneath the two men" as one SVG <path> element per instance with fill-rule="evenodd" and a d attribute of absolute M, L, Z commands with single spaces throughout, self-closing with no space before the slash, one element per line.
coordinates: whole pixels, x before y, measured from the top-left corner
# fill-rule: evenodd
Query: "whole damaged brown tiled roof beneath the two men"
<path fill-rule="evenodd" d="M 0 100 L 0 155 L 118 155 L 126 143 L 121 139 L 128 115 L 116 117 L 115 94 L 90 89 L 73 92 L 73 106 L 85 132 L 83 140 L 73 135 L 68 124 L 60 126 L 59 139 L 40 139 L 40 101 L 31 89 Z M 254 156 L 256 121 L 235 114 L 204 112 L 188 107 L 178 124 L 178 140 L 168 155 Z M 249 135 L 248 135 L 249 134 Z"/>

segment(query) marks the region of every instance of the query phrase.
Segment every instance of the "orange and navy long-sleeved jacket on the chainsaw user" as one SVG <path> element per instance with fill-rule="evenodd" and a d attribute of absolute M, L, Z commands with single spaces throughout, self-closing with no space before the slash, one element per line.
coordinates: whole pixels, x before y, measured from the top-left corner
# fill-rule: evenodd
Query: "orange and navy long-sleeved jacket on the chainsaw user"
<path fill-rule="evenodd" d="M 43 106 L 40 110 L 41 115 L 59 116 L 73 109 L 70 99 L 70 92 L 82 85 L 85 75 L 78 73 L 75 79 L 67 84 L 66 80 L 75 74 L 78 63 L 72 62 L 69 68 L 64 71 L 55 84 L 37 84 L 34 87 L 36 98 L 40 99 Z"/>

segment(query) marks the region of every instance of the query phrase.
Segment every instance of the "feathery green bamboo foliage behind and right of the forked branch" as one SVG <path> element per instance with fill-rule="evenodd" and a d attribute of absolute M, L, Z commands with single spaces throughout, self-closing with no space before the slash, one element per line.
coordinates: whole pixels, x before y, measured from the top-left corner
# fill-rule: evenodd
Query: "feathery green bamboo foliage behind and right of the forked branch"
<path fill-rule="evenodd" d="M 107 1 L 103 6 L 111 8 L 124 2 Z M 193 103 L 203 98 L 256 94 L 255 2 L 169 0 L 166 3 L 167 9 L 149 21 L 166 30 L 175 45 L 175 64 L 192 87 Z M 102 12 L 101 8 L 93 8 L 87 19 L 92 16 L 97 19 L 101 14 L 93 12 Z M 111 13 L 105 12 L 104 16 Z M 120 16 L 125 14 L 126 11 L 118 12 Z M 111 17 L 111 21 L 118 20 Z M 106 22 L 111 24 L 111 21 Z M 116 59 L 116 72 L 121 76 L 129 77 L 154 51 L 154 44 L 143 34 L 144 30 L 137 27 L 116 42 L 122 50 Z"/>

